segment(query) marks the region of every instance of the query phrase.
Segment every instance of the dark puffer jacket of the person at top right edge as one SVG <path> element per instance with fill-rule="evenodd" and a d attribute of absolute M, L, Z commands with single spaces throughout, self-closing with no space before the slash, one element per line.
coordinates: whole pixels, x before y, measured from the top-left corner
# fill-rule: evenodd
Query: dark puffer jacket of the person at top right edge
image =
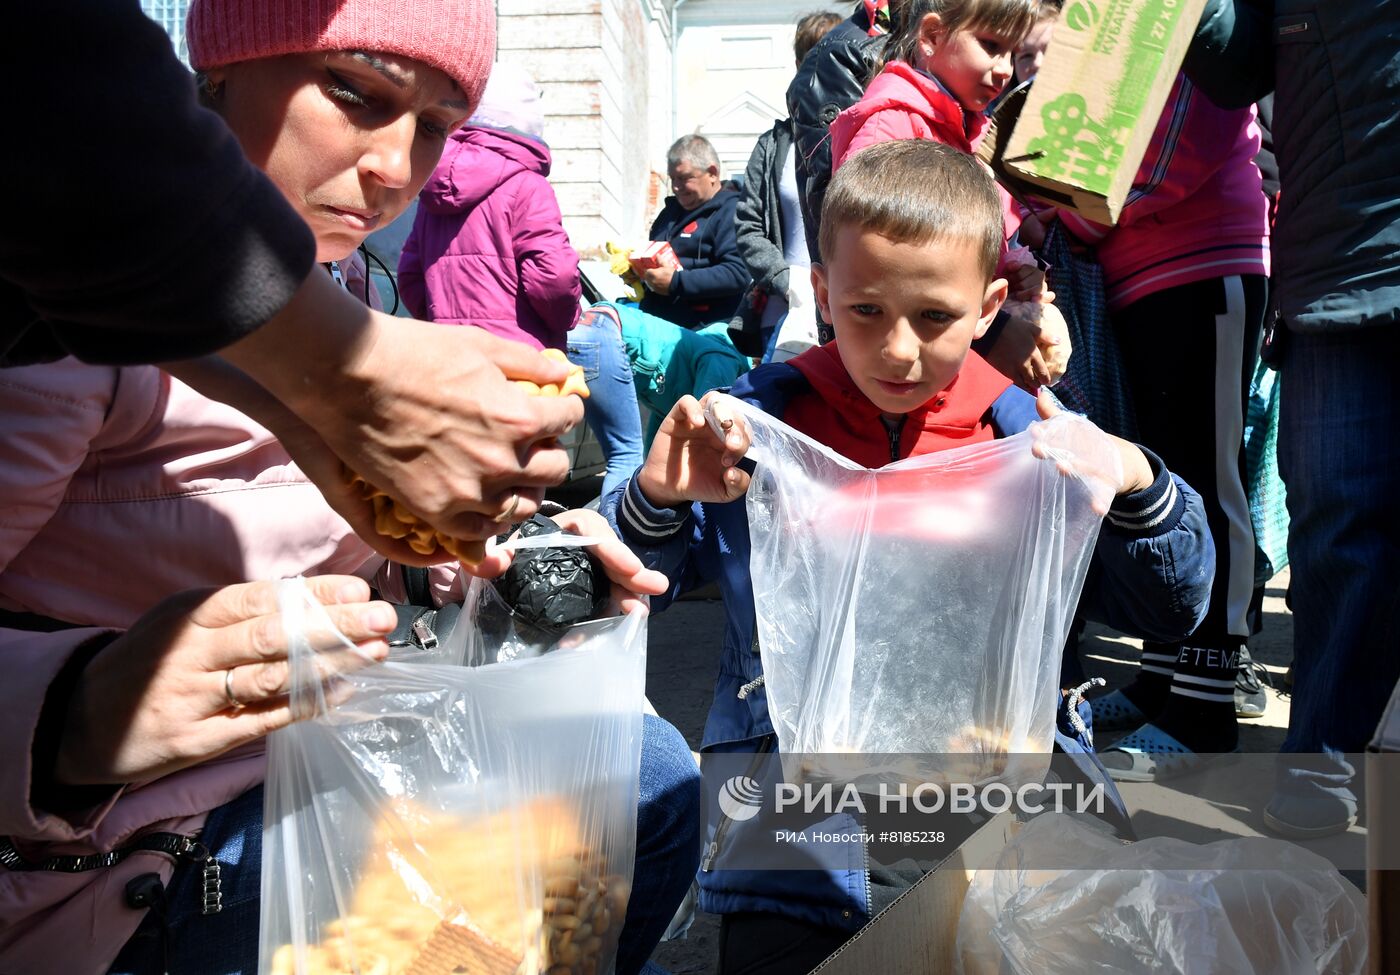
<path fill-rule="evenodd" d="M 1400 325 L 1400 0 L 1210 0 L 1186 73 L 1274 91 L 1274 301 L 1289 329 Z"/>

